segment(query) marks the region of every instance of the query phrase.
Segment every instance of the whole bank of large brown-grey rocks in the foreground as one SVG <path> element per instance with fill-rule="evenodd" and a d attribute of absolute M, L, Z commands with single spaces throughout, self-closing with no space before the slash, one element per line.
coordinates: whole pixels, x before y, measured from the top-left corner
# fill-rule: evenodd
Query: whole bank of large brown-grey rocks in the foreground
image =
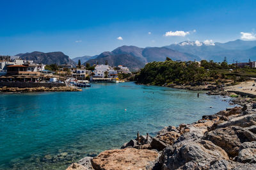
<path fill-rule="evenodd" d="M 85 157 L 68 169 L 256 169 L 256 109 L 228 108 L 191 124 L 137 135 L 120 150 Z"/>

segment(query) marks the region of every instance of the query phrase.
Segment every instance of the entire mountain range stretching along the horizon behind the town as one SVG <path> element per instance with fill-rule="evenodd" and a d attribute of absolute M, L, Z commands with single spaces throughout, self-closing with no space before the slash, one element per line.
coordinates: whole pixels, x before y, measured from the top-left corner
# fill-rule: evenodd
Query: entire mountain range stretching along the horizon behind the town
<path fill-rule="evenodd" d="M 33 60 L 35 63 L 53 64 L 71 64 L 76 65 L 78 60 L 85 65 L 86 63 L 109 65 L 125 65 L 131 70 L 138 70 L 146 63 L 152 61 L 164 61 L 166 57 L 180 61 L 200 61 L 202 59 L 221 62 L 226 57 L 228 63 L 234 61 L 246 62 L 248 59 L 256 61 L 256 41 L 235 40 L 226 43 L 213 43 L 212 41 L 191 42 L 184 41 L 173 43 L 164 47 L 146 47 L 136 46 L 118 47 L 113 51 L 102 52 L 95 56 L 83 56 L 70 59 L 63 52 L 27 52 L 17 54 L 22 59 Z"/>

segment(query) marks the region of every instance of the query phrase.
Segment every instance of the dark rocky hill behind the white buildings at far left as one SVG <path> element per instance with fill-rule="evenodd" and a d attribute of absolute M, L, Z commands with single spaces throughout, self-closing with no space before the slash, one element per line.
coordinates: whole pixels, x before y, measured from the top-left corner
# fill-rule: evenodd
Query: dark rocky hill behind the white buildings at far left
<path fill-rule="evenodd" d="M 43 63 L 45 65 L 57 64 L 70 64 L 76 65 L 72 59 L 70 59 L 67 55 L 63 54 L 63 52 L 26 52 L 24 54 L 17 54 L 16 56 L 20 56 L 21 59 L 33 60 L 34 63 Z"/>

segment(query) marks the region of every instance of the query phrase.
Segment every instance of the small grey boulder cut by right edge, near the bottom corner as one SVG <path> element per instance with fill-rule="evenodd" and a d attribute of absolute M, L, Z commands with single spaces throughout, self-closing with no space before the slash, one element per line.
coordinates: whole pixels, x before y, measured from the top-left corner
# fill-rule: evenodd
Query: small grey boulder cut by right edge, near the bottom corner
<path fill-rule="evenodd" d="M 243 143 L 239 148 L 237 162 L 256 163 L 256 142 Z"/>

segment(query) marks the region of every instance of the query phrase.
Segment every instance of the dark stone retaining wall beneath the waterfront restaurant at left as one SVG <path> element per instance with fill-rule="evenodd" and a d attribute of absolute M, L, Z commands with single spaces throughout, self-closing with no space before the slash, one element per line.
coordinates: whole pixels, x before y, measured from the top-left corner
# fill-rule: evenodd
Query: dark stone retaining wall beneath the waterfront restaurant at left
<path fill-rule="evenodd" d="M 0 87 L 8 88 L 37 88 L 37 87 L 63 87 L 65 83 L 51 83 L 51 82 L 0 82 Z"/>

